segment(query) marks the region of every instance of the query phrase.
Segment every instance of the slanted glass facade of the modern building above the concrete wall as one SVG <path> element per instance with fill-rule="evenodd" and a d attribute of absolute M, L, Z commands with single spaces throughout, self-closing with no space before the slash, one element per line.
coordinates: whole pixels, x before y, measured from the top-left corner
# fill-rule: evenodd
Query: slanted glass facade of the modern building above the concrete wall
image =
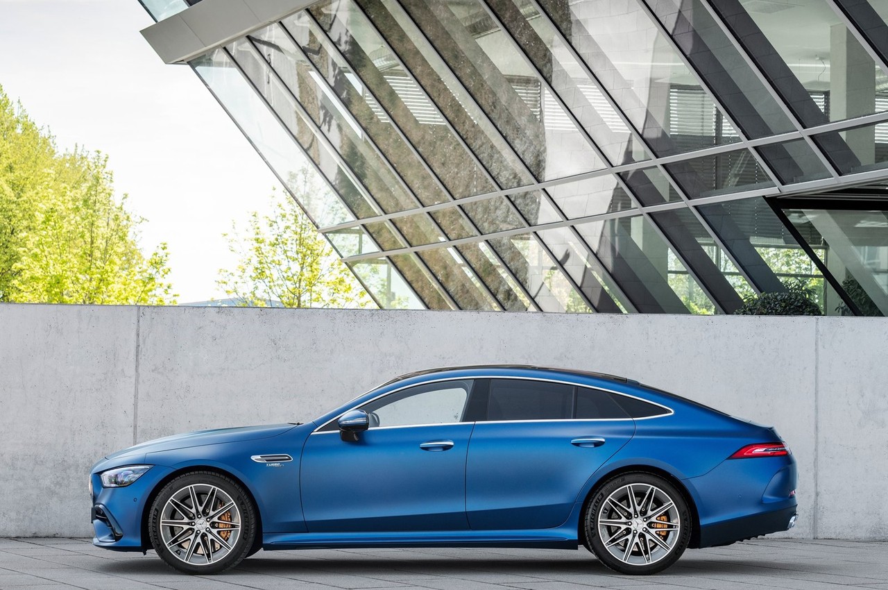
<path fill-rule="evenodd" d="M 189 63 L 382 307 L 719 314 L 792 282 L 888 315 L 886 21 L 320 0 Z"/>

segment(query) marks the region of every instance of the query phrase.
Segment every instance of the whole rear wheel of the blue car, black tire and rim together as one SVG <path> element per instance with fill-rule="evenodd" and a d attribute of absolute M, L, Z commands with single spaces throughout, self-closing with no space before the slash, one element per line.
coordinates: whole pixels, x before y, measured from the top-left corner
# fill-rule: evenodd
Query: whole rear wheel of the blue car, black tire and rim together
<path fill-rule="evenodd" d="M 608 568 L 646 576 L 667 569 L 685 553 L 693 519 L 674 485 L 659 475 L 632 472 L 595 491 L 583 526 L 584 544 Z"/>

